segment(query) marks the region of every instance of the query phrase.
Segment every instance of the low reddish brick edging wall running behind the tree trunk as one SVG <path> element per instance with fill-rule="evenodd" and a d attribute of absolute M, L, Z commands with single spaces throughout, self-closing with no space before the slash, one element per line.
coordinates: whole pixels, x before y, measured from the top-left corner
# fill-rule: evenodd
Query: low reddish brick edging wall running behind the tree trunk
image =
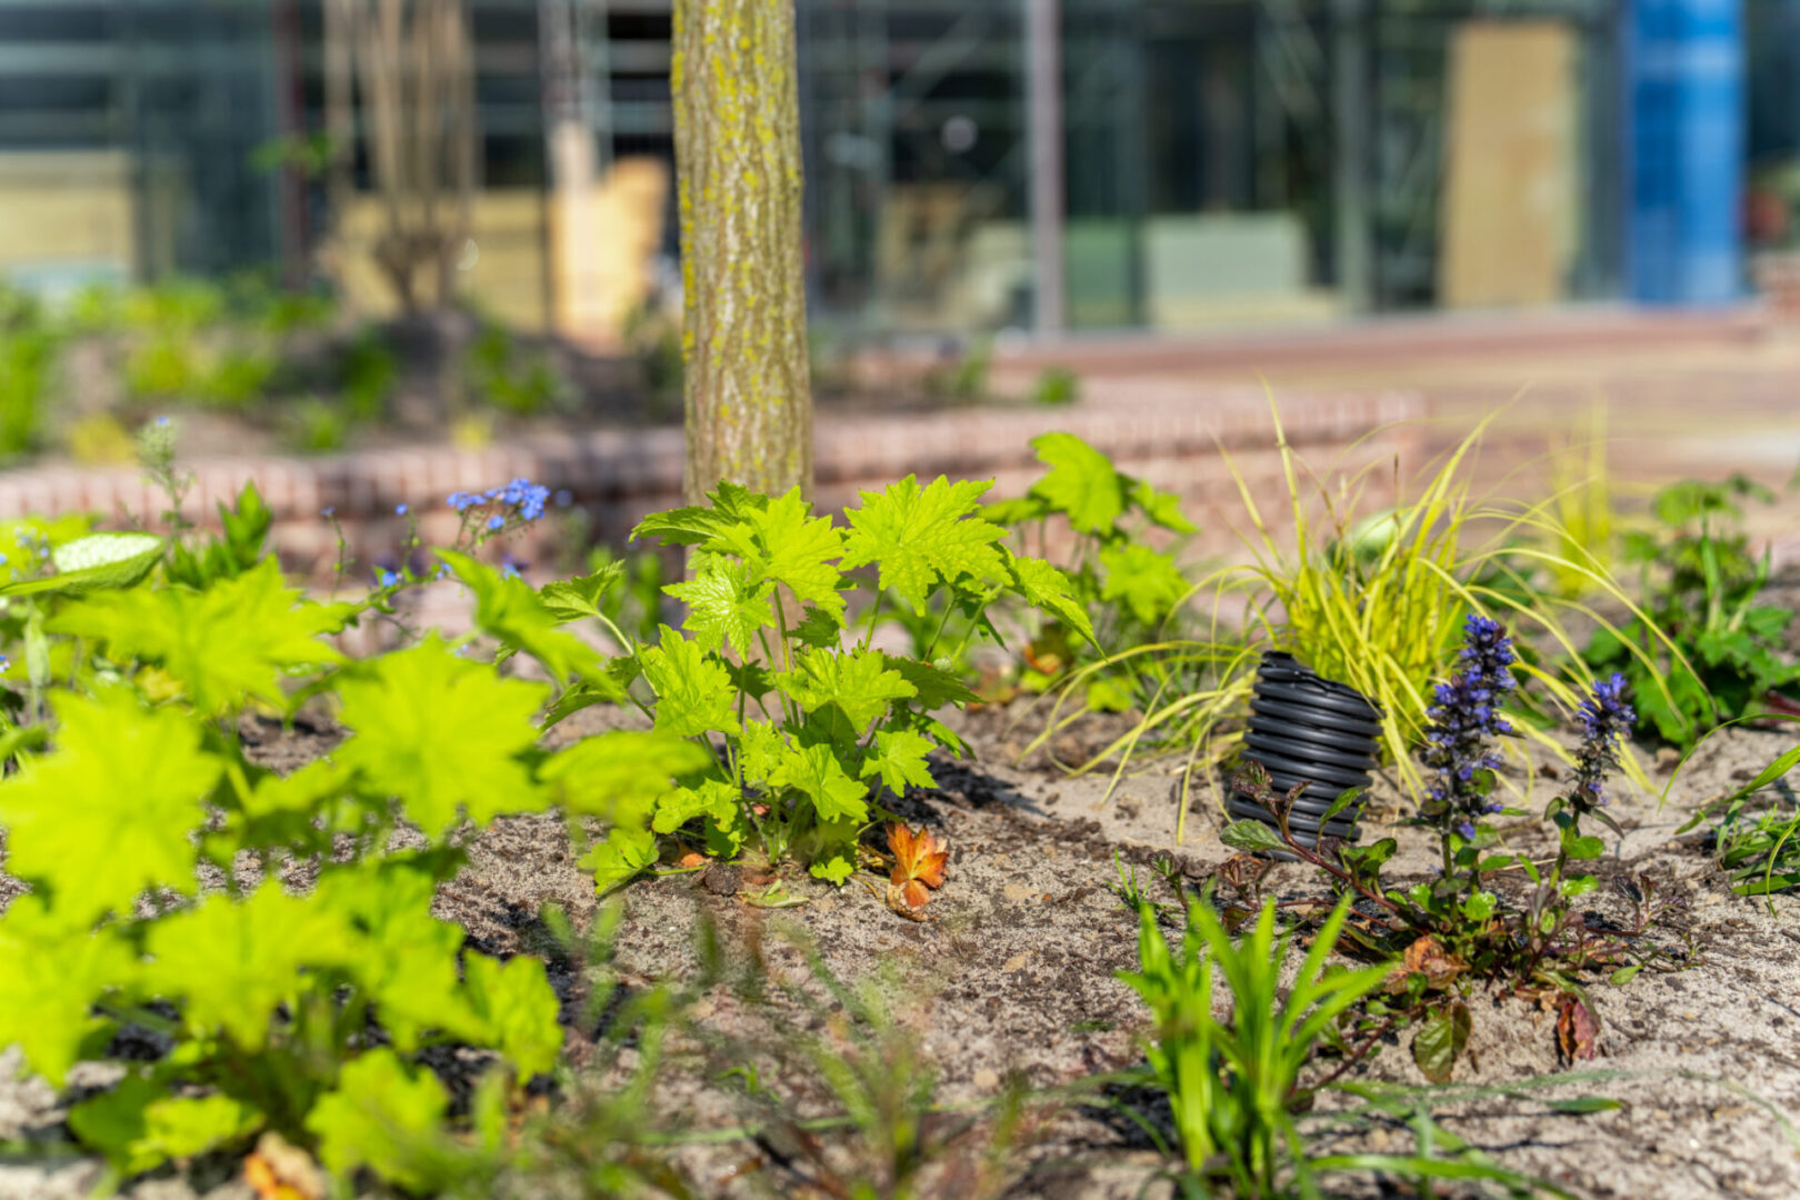
<path fill-rule="evenodd" d="M 1312 462 L 1359 470 L 1370 462 L 1415 459 L 1424 444 L 1426 408 L 1404 390 L 1319 390 L 1283 398 L 1289 441 Z M 1229 552 L 1228 515 L 1237 486 L 1220 459 L 1233 455 L 1253 495 L 1269 506 L 1282 495 L 1274 430 L 1265 396 L 1255 387 L 1193 389 L 1141 380 L 1107 389 L 1069 408 L 986 405 L 934 414 L 830 416 L 817 425 L 817 500 L 853 504 L 859 489 L 904 475 L 995 479 L 995 497 L 1017 495 L 1042 470 L 1030 439 L 1048 430 L 1085 437 L 1121 470 L 1175 491 L 1202 524 L 1199 549 Z M 448 446 L 369 450 L 317 459 L 223 457 L 185 464 L 194 473 L 184 515 L 211 520 L 245 480 L 256 480 L 275 515 L 274 540 L 290 567 L 329 576 L 337 542 L 320 511 L 331 507 L 349 556 L 367 567 L 403 545 L 407 504 L 430 543 L 448 543 L 457 527 L 443 498 L 527 477 L 567 491 L 585 511 L 589 536 L 625 540 L 644 515 L 680 504 L 679 428 L 596 428 L 585 434 L 517 441 L 490 450 Z M 1381 473 L 1375 473 L 1381 477 Z M 1384 477 L 1382 477 L 1384 479 Z M 1377 484 L 1379 489 L 1379 484 Z M 0 518 L 88 511 L 133 524 L 164 507 L 135 468 L 25 468 L 0 473 Z M 520 552 L 531 556 L 533 545 Z"/>

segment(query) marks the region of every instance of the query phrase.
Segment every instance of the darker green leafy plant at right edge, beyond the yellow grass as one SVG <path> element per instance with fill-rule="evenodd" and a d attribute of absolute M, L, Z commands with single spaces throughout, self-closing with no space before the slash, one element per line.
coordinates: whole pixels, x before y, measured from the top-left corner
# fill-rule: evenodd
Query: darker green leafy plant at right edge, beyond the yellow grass
<path fill-rule="evenodd" d="M 1800 682 L 1782 644 L 1793 612 L 1757 603 L 1769 560 L 1750 554 L 1742 529 L 1742 502 L 1773 498 L 1744 475 L 1656 493 L 1658 527 L 1625 536 L 1645 612 L 1618 630 L 1597 630 L 1584 651 L 1597 671 L 1616 669 L 1631 682 L 1638 727 L 1683 750 Z"/>

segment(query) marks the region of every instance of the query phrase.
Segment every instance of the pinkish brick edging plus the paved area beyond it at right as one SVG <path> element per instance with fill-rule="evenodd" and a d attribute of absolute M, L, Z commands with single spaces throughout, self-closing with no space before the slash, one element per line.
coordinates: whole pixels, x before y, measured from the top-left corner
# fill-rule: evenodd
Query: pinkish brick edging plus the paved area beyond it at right
<path fill-rule="evenodd" d="M 1062 428 L 1127 471 L 1177 491 L 1202 525 L 1199 547 L 1231 554 L 1242 502 L 1219 450 L 1231 453 L 1258 504 L 1278 509 L 1280 462 L 1269 399 L 1314 471 L 1370 471 L 1370 506 L 1391 480 L 1427 466 L 1492 416 L 1476 461 L 1478 489 L 1541 495 L 1552 437 L 1584 435 L 1586 414 L 1609 412 L 1609 470 L 1629 500 L 1678 477 L 1733 470 L 1771 486 L 1800 464 L 1800 336 L 1751 311 L 1721 315 L 1570 313 L 1530 318 L 1436 318 L 1366 327 L 1210 340 L 1076 340 L 995 360 L 1001 392 L 1024 390 L 1044 365 L 1082 376 L 1069 408 L 985 405 L 931 414 L 821 416 L 817 498 L 851 504 L 859 489 L 907 473 L 995 479 L 995 495 L 1037 473 L 1030 439 Z M 871 358 L 866 371 L 914 369 Z M 679 428 L 596 428 L 490 450 L 371 450 L 319 459 L 236 457 L 191 462 L 189 516 L 205 520 L 247 479 L 277 515 L 275 540 L 301 570 L 337 560 L 324 507 L 335 507 L 355 558 L 392 552 L 409 504 L 423 536 L 446 542 L 452 491 L 517 475 L 567 489 L 590 536 L 621 542 L 644 513 L 680 502 Z M 1393 470 L 1388 464 L 1393 464 Z M 0 473 L 0 516 L 94 511 L 130 522 L 162 507 L 135 470 L 63 466 Z M 1800 506 L 1757 511 L 1755 531 L 1800 554 Z M 529 551 L 529 547 L 527 547 Z"/>

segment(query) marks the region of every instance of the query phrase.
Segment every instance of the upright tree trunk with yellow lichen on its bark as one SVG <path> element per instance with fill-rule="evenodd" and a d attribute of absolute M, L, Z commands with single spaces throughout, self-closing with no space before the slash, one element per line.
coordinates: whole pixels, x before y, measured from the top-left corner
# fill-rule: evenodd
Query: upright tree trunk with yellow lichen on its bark
<path fill-rule="evenodd" d="M 812 495 L 794 0 L 675 0 L 689 502 Z"/>

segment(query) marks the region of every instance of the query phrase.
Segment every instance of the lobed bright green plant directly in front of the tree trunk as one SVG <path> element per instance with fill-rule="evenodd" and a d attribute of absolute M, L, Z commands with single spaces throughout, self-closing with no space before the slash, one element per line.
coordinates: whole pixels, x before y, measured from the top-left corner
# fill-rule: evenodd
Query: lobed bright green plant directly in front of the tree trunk
<path fill-rule="evenodd" d="M 634 536 L 695 547 L 693 579 L 666 588 L 686 601 L 686 628 L 664 626 L 632 658 L 653 693 L 655 730 L 691 738 L 698 757 L 664 761 L 655 786 L 610 801 L 580 783 L 587 768 L 558 761 L 571 752 L 545 765 L 569 808 L 610 804 L 612 829 L 583 858 L 603 889 L 655 862 L 657 838 L 770 862 L 792 855 L 819 878 L 850 878 L 864 829 L 887 817 L 886 792 L 931 786 L 927 756 L 959 748 L 932 712 L 974 698 L 931 662 L 929 644 L 902 658 L 875 649 L 871 630 L 851 639 L 846 601 L 868 581 L 850 572 L 873 567 L 877 596 L 893 590 L 914 612 L 956 603 L 970 621 L 1008 592 L 1075 608 L 1055 567 L 997 545 L 1004 531 L 976 516 L 985 489 L 909 477 L 864 493 L 846 533 L 797 491 L 769 498 L 724 484 L 709 506 L 637 527 Z"/>

